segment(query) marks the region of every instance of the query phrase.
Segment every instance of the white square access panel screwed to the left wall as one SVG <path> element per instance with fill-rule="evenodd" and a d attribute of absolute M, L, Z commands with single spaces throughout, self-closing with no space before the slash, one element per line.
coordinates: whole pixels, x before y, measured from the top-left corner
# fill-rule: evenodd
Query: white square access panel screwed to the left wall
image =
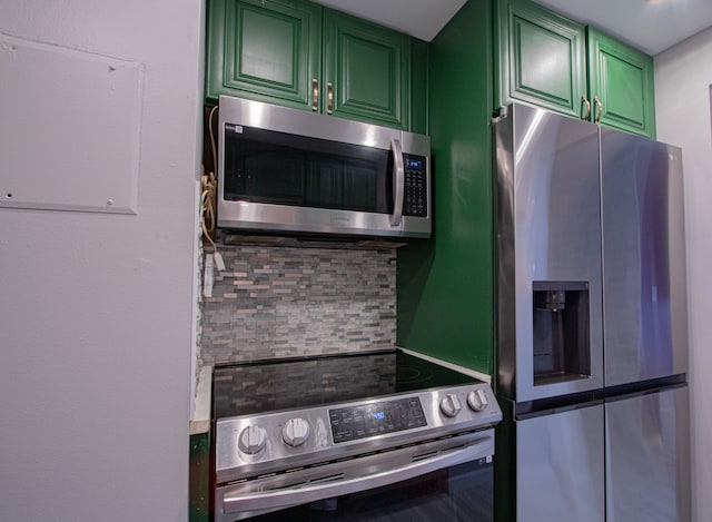
<path fill-rule="evenodd" d="M 136 214 L 141 63 L 0 33 L 0 70 L 3 126 L 42 150 L 7 141 L 0 206 Z"/>

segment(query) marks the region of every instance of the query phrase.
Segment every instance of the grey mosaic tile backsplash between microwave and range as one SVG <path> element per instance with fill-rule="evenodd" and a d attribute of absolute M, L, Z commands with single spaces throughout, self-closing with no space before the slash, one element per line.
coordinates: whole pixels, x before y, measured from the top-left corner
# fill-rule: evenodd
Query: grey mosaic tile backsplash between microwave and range
<path fill-rule="evenodd" d="M 204 298 L 202 364 L 392 348 L 396 254 L 221 246 Z"/>

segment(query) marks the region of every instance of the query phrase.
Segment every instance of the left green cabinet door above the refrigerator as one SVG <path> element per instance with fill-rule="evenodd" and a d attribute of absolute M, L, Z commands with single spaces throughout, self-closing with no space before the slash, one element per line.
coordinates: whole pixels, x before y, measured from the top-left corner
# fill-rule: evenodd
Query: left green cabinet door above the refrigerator
<path fill-rule="evenodd" d="M 497 19 L 496 107 L 518 100 L 580 117 L 586 93 L 584 27 L 527 0 L 500 0 Z"/>

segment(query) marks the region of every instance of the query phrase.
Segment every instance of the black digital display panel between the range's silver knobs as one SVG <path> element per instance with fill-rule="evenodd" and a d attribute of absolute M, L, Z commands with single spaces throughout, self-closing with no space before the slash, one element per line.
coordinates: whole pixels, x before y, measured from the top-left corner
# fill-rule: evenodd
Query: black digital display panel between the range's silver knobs
<path fill-rule="evenodd" d="M 334 443 L 426 426 L 418 397 L 329 410 Z"/>

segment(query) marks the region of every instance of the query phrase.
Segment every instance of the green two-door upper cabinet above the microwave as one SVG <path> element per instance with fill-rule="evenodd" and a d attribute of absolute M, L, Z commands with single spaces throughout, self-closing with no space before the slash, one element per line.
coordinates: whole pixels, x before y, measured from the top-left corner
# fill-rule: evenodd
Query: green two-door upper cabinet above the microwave
<path fill-rule="evenodd" d="M 229 95 L 411 129 L 406 35 L 304 0 L 209 0 L 207 32 L 210 101 Z"/>

